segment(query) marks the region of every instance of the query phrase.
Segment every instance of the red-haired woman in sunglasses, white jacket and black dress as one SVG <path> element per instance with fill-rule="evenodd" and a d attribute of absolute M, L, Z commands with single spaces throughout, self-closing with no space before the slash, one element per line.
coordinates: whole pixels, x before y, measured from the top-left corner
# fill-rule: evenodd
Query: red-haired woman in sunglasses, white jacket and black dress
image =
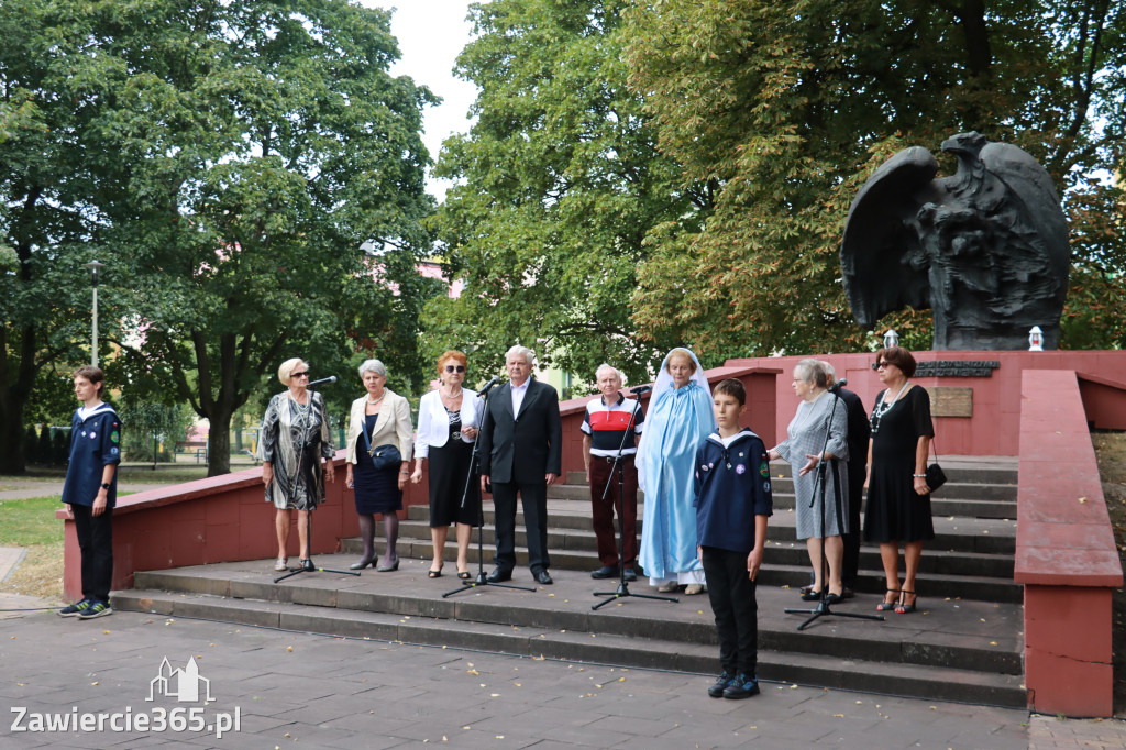
<path fill-rule="evenodd" d="M 434 562 L 430 578 L 440 578 L 443 553 L 449 525 L 457 524 L 457 577 L 470 578 L 470 535 L 481 523 L 481 488 L 479 475 L 468 482 L 473 458 L 473 439 L 481 425 L 484 402 L 473 391 L 462 389 L 465 381 L 465 355 L 450 350 L 438 357 L 441 387 L 422 396 L 419 402 L 419 431 L 414 439 L 414 473 L 411 482 L 422 480 L 422 462 L 429 461 L 430 538 Z"/>

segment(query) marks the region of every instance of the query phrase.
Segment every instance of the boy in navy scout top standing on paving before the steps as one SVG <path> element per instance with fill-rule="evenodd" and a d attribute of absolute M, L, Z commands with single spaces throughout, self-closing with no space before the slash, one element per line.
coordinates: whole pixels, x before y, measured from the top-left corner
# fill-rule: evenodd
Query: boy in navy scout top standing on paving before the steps
<path fill-rule="evenodd" d="M 750 698 L 759 693 L 759 620 L 754 579 L 762 565 L 767 518 L 774 512 L 767 448 L 740 429 L 747 391 L 734 378 L 713 391 L 720 429 L 696 450 L 696 538 L 720 634 L 723 672 L 707 694 Z"/>

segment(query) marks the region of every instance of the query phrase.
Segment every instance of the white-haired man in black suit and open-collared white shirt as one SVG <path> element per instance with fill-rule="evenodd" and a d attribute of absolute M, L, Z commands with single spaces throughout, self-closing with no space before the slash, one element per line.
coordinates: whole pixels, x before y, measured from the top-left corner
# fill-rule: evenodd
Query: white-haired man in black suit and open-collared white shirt
<path fill-rule="evenodd" d="M 562 472 L 563 426 L 555 389 L 531 377 L 536 355 L 515 346 L 504 366 L 509 383 L 489 399 L 481 422 L 477 450 L 481 489 L 488 476 L 497 510 L 497 566 L 488 579 L 512 578 L 516 568 L 516 495 L 524 501 L 524 525 L 528 536 L 528 568 L 539 583 L 552 583 L 547 572 L 547 485 Z"/>

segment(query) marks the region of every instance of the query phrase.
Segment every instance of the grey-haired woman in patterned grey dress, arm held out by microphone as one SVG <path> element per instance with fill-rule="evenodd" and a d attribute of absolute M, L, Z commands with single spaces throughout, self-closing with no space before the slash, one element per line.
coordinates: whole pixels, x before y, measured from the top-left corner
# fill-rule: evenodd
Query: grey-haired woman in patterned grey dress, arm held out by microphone
<path fill-rule="evenodd" d="M 770 449 L 774 461 L 789 462 L 794 475 L 796 495 L 795 515 L 797 538 L 805 539 L 813 564 L 813 588 L 802 598 L 812 601 L 821 598 L 822 580 L 821 537 L 825 537 L 824 555 L 829 562 L 829 592 L 825 600 L 835 604 L 841 600 L 841 563 L 844 555 L 842 533 L 848 533 L 848 410 L 843 404 L 833 410 L 834 394 L 826 390 L 824 367 L 816 359 L 803 359 L 794 367 L 794 393 L 802 401 L 797 413 L 786 428 L 786 439 Z M 830 422 L 830 412 L 832 421 Z M 825 443 L 825 431 L 829 443 Z M 824 454 L 821 450 L 824 447 Z M 839 461 L 834 461 L 839 459 Z M 825 466 L 825 503 L 821 520 L 817 518 L 819 499 L 814 498 L 817 484 L 815 471 L 822 461 Z M 820 488 L 817 495 L 820 495 Z M 811 506 L 811 501 L 813 501 Z M 822 524 L 823 530 L 822 530 Z"/>

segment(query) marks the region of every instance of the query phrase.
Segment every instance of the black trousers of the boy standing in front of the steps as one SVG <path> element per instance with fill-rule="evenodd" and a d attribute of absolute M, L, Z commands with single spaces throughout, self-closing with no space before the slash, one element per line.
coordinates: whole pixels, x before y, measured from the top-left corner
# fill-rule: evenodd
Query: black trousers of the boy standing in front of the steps
<path fill-rule="evenodd" d="M 748 552 L 704 547 L 704 575 L 720 634 L 720 664 L 730 675 L 754 675 L 759 661 L 759 607 L 748 578 Z"/>

